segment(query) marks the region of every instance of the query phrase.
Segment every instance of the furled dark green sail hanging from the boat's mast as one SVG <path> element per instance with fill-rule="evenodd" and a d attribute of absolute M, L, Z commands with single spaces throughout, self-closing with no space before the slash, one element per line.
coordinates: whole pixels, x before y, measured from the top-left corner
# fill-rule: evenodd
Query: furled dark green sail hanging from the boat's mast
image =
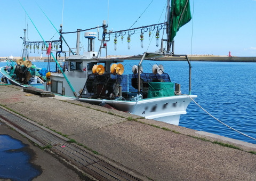
<path fill-rule="evenodd" d="M 189 0 L 172 0 L 170 12 L 169 41 L 172 42 L 179 28 L 191 20 Z"/>

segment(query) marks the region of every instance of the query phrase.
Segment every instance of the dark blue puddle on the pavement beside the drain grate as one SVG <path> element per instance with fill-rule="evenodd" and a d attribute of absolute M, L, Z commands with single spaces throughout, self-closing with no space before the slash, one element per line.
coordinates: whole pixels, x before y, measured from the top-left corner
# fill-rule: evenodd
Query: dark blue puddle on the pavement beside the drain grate
<path fill-rule="evenodd" d="M 30 155 L 23 150 L 26 146 L 9 135 L 0 135 L 0 178 L 32 180 L 41 174 L 29 163 Z"/>

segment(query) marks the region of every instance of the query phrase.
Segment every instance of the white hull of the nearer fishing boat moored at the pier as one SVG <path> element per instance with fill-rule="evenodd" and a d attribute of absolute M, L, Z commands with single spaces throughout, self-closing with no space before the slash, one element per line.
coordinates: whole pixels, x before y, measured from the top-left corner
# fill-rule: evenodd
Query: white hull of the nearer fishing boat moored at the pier
<path fill-rule="evenodd" d="M 187 113 L 187 106 L 192 101 L 190 97 L 196 98 L 197 96 L 178 95 L 145 98 L 138 102 L 121 100 L 96 100 L 90 98 L 76 98 L 76 100 L 95 105 L 99 105 L 100 103 L 104 102 L 113 106 L 113 108 L 117 110 L 130 112 L 132 114 L 145 117 L 146 119 L 154 119 L 173 125 L 179 125 L 180 115 Z"/>

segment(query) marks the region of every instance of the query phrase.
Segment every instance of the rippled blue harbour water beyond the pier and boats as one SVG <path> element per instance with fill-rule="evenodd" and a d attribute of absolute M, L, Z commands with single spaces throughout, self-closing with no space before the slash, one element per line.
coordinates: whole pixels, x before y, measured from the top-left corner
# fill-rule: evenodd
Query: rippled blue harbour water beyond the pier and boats
<path fill-rule="evenodd" d="M 181 92 L 188 94 L 189 68 L 187 62 L 144 61 L 144 72 L 151 72 L 151 65 L 162 64 L 172 82 L 181 84 Z M 47 68 L 47 63 L 36 62 L 37 67 Z M 138 61 L 125 61 L 125 72 L 132 73 Z M 196 102 L 225 124 L 256 138 L 256 63 L 247 62 L 191 62 L 192 94 Z M 0 63 L 5 65 L 5 63 Z M 54 68 L 54 63 L 51 67 Z M 1 66 L 2 67 L 2 66 Z M 148 70 L 149 71 L 146 71 Z M 191 102 L 187 114 L 180 118 L 179 126 L 203 130 L 241 141 L 256 141 L 220 124 Z"/>

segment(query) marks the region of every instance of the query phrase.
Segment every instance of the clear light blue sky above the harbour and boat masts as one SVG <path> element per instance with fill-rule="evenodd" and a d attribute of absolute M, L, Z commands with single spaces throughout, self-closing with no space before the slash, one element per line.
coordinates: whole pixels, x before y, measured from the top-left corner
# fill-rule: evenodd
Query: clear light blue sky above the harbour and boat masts
<path fill-rule="evenodd" d="M 107 21 L 108 30 L 113 31 L 129 29 L 136 20 L 132 28 L 165 21 L 166 0 L 20 0 L 20 3 L 45 40 L 58 40 L 59 35 L 44 13 L 57 29 L 62 23 L 63 32 L 101 26 L 103 20 Z M 42 41 L 20 3 L 19 0 L 0 0 L 0 56 L 22 55 L 20 37 L 23 37 L 23 29 L 28 29 L 30 41 Z M 230 51 L 233 56 L 256 56 L 256 0 L 190 0 L 190 7 L 193 19 L 180 28 L 174 38 L 175 53 L 228 55 Z M 141 48 L 140 32 L 136 31 L 131 36 L 130 50 L 127 48 L 127 35 L 123 42 L 121 36 L 117 37 L 116 51 L 114 37 L 111 37 L 107 44 L 108 55 L 135 55 L 159 49 L 153 31 L 151 39 L 148 32 L 144 33 Z M 163 30 L 160 35 L 162 37 Z M 70 47 L 76 47 L 76 34 L 63 36 Z M 95 40 L 95 51 L 99 50 L 98 42 Z M 83 34 L 81 47 L 81 52 L 87 50 L 87 40 Z M 34 54 L 32 50 L 30 56 L 40 54 L 37 54 L 37 50 Z"/>

